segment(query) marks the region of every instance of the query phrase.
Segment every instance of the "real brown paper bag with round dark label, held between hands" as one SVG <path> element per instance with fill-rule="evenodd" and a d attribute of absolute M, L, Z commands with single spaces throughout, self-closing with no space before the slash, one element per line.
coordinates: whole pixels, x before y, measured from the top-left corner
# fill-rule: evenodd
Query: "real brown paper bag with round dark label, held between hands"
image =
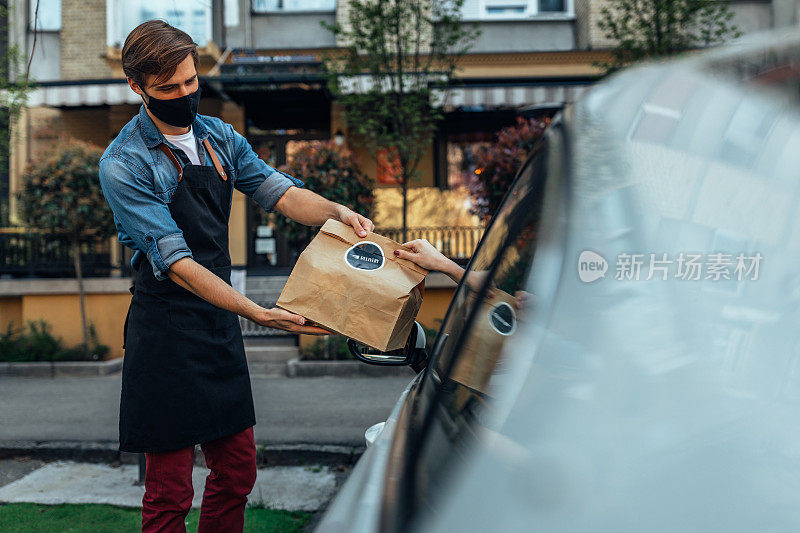
<path fill-rule="evenodd" d="M 382 351 L 405 345 L 428 271 L 398 243 L 328 220 L 297 259 L 277 305 Z"/>

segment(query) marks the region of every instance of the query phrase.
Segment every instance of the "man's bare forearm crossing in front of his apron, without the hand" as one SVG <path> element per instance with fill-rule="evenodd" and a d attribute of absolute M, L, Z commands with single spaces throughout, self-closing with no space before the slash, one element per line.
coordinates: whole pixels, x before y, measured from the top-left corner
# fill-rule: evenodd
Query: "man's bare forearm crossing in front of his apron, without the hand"
<path fill-rule="evenodd" d="M 191 257 L 182 257 L 175 261 L 167 275 L 200 298 L 250 320 L 264 310 Z"/>

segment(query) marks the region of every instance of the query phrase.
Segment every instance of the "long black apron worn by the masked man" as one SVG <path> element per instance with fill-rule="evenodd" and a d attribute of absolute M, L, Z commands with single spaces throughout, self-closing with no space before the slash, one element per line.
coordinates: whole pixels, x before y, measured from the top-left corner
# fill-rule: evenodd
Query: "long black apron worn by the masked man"
<path fill-rule="evenodd" d="M 230 285 L 233 185 L 208 140 L 203 144 L 214 165 L 188 164 L 182 170 L 169 147 L 159 146 L 178 170 L 169 211 L 194 260 Z M 255 425 L 238 315 L 169 278 L 156 280 L 149 261 L 135 269 L 131 292 L 123 333 L 119 449 L 176 450 Z"/>

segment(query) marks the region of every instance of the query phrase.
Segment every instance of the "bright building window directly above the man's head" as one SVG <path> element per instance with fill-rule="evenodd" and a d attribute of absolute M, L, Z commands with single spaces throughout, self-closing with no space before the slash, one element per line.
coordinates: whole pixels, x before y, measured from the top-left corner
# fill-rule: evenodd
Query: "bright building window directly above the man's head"
<path fill-rule="evenodd" d="M 125 37 L 133 28 L 152 19 L 165 20 L 185 31 L 199 46 L 206 46 L 211 41 L 211 2 L 106 0 L 108 45 L 122 48 Z"/>

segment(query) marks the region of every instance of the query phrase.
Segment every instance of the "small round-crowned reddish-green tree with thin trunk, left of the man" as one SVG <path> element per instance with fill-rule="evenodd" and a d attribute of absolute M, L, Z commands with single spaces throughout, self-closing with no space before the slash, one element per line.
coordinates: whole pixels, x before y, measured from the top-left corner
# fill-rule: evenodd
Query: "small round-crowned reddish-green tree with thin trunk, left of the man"
<path fill-rule="evenodd" d="M 18 193 L 23 222 L 44 232 L 61 234 L 70 242 L 83 328 L 83 348 L 89 349 L 86 323 L 81 245 L 114 235 L 114 216 L 100 188 L 99 163 L 102 150 L 69 141 L 48 159 L 31 165 Z"/>

